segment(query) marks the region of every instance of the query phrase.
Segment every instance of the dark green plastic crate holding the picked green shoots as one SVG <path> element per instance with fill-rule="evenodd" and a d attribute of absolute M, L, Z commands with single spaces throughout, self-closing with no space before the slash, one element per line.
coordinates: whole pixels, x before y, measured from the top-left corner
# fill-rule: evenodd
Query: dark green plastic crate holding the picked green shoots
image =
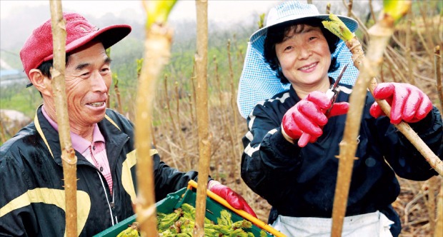
<path fill-rule="evenodd" d="M 184 196 L 183 196 L 184 194 Z M 183 198 L 181 198 L 183 196 Z M 159 213 L 171 213 L 174 209 L 179 208 L 182 203 L 188 203 L 191 206 L 195 207 L 196 201 L 196 192 L 191 189 L 181 188 L 179 191 L 175 193 L 169 193 L 166 198 L 156 203 L 157 212 Z M 232 221 L 241 221 L 244 218 L 230 211 L 229 209 L 222 206 L 220 203 L 217 203 L 213 199 L 206 196 L 206 218 L 216 223 L 216 218 L 220 217 L 221 210 L 227 210 L 232 214 Z M 115 237 L 121 231 L 124 231 L 128 228 L 128 225 L 136 221 L 136 215 L 126 218 L 124 221 L 119 222 L 115 226 L 111 226 L 104 231 L 96 234 L 97 237 Z M 261 228 L 258 226 L 252 225 L 252 228 L 246 229 L 246 231 L 254 233 L 254 236 L 260 236 Z M 272 236 L 267 232 L 267 236 Z"/>

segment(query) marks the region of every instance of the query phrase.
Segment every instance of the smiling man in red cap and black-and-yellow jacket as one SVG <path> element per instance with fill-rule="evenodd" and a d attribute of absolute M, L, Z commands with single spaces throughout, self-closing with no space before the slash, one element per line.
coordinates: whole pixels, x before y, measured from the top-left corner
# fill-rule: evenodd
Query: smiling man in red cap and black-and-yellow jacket
<path fill-rule="evenodd" d="M 106 109 L 111 59 L 105 49 L 131 31 L 127 25 L 97 29 L 83 16 L 66 20 L 66 98 L 77 157 L 77 232 L 93 236 L 134 214 L 136 200 L 134 125 Z M 63 236 L 64 178 L 54 91 L 51 21 L 36 28 L 20 51 L 24 71 L 41 93 L 34 122 L 0 148 L 0 236 Z M 197 173 L 179 172 L 154 159 L 156 200 L 179 190 Z M 255 216 L 237 193 L 217 181 L 209 189 L 234 208 Z"/>

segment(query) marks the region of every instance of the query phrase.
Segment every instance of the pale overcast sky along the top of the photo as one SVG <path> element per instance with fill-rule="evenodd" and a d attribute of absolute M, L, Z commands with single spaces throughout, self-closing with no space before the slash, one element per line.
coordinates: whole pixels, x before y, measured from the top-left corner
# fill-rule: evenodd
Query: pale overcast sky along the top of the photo
<path fill-rule="evenodd" d="M 306 2 L 306 0 L 300 1 Z M 354 9 L 359 8 L 367 11 L 368 1 L 354 1 Z M 377 1 L 380 0 L 372 0 L 373 3 Z M 281 0 L 209 0 L 209 23 L 217 24 L 219 29 L 234 29 L 235 27 L 232 26 L 257 25 L 260 14 L 268 14 L 272 6 L 276 6 L 281 2 Z M 340 0 L 313 1 L 322 13 L 324 13 L 328 2 L 331 2 L 334 14 L 347 14 L 346 8 Z M 82 14 L 93 24 L 101 22 L 102 24 L 143 26 L 146 22 L 146 13 L 141 6 L 141 0 L 62 0 L 61 5 L 63 11 Z M 18 51 L 26 38 L 31 34 L 32 29 L 35 29 L 51 17 L 49 0 L 0 0 L 0 11 L 1 59 L 6 54 L 16 54 L 18 57 Z M 106 14 L 112 14 L 116 17 L 112 18 Z M 104 17 L 101 18 L 101 16 Z M 118 23 L 114 21 L 118 21 Z M 171 24 L 176 23 L 176 26 L 181 21 L 196 21 L 195 1 L 177 1 L 176 6 L 174 6 L 169 15 L 169 21 Z M 136 33 L 141 34 L 139 31 L 136 31 L 134 28 L 132 35 L 135 36 Z M 195 29 L 175 29 L 174 32 L 179 35 L 179 31 L 195 31 Z"/>

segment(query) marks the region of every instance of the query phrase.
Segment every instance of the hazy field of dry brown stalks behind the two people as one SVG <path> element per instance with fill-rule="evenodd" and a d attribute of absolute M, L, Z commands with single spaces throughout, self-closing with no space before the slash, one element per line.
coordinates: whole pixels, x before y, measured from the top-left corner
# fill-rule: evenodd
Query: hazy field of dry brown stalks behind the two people
<path fill-rule="evenodd" d="M 352 17 L 359 19 L 360 28 L 357 36 L 363 44 L 367 41 L 366 29 L 374 24 L 374 18 L 378 16 L 378 12 L 371 14 L 371 10 L 375 8 L 372 4 L 377 2 L 379 4 L 379 1 L 374 2 L 365 1 L 365 4 L 354 6 L 356 15 Z M 314 4 L 317 3 L 319 11 L 324 12 L 324 2 L 314 1 Z M 339 9 L 342 14 L 347 14 L 342 1 L 332 1 L 332 5 L 337 11 Z M 385 54 L 379 76 L 379 82 L 407 82 L 418 86 L 427 93 L 440 111 L 442 111 L 442 102 L 439 101 L 438 93 L 442 92 L 437 91 L 436 86 L 434 47 L 443 48 L 442 15 L 441 1 L 414 1 L 412 13 L 397 27 Z M 241 140 L 247 132 L 247 126 L 246 120 L 237 110 L 237 85 L 247 39 L 258 29 L 257 24 L 254 24 L 258 20 L 259 16 L 256 16 L 249 21 L 253 24 L 236 25 L 229 29 L 211 26 L 208 68 L 212 134 L 210 174 L 216 180 L 241 193 L 259 218 L 267 221 L 269 204 L 253 193 L 243 183 L 239 174 L 243 151 Z M 114 22 L 103 24 L 114 24 Z M 181 22 L 175 24 L 174 29 L 176 29 L 176 38 L 171 61 L 157 84 L 152 115 L 153 141 L 166 163 L 181 171 L 187 171 L 197 169 L 199 158 L 194 92 L 195 23 Z M 134 26 L 131 37 L 111 48 L 112 69 L 115 75 L 114 86 L 109 95 L 109 106 L 133 121 L 137 59 L 141 59 L 143 50 L 141 32 L 143 32 L 141 26 Z M 17 47 L 19 46 L 11 46 L 9 51 L 16 51 Z M 441 54 L 439 56 L 441 57 Z M 21 69 L 16 55 L 2 51 L 1 59 Z M 29 118 L 33 118 L 36 106 L 39 104 L 41 104 L 39 93 L 32 88 L 24 89 L 24 84 L 0 87 L 0 109 L 21 111 Z M 9 126 L 9 122 L 5 116 L 1 116 L 0 143 L 4 143 L 21 127 L 21 124 Z M 442 186 L 442 177 L 436 176 L 425 182 L 407 181 L 402 178 L 399 180 L 402 193 L 394 202 L 394 208 L 399 212 L 403 222 L 402 236 L 433 236 L 437 195 Z M 443 194 L 440 192 L 439 195 Z"/>

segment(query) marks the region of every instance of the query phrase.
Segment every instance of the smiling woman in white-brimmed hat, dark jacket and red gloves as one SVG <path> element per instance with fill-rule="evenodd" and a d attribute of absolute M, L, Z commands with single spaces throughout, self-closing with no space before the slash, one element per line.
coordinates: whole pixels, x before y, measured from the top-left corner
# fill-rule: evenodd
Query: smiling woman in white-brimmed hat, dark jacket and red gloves
<path fill-rule="evenodd" d="M 357 29 L 354 19 L 337 17 L 352 32 Z M 398 121 L 378 113 L 369 91 L 362 90 L 362 119 L 348 113 L 351 93 L 359 94 L 352 86 L 340 83 L 341 92 L 334 103 L 327 97 L 325 92 L 338 81 L 329 77 L 328 71 L 337 71 L 337 67 L 329 68 L 334 65 L 334 51 L 339 50 L 332 47 L 338 44 L 337 37 L 327 36 L 319 24 L 328 18 L 312 4 L 284 1 L 269 11 L 267 26 L 250 37 L 248 46 L 254 50 L 247 51 L 244 71 L 271 69 L 289 89 L 259 101 L 249 111 L 249 130 L 242 139 L 242 178 L 272 205 L 269 223 L 274 228 L 287 236 L 329 236 L 337 199 L 334 185 L 340 183 L 337 170 L 344 158 L 344 127 L 347 119 L 355 119 L 361 128 L 347 143 L 357 147 L 352 154 L 358 160 L 350 158 L 354 168 L 342 235 L 398 236 L 401 221 L 391 205 L 399 196 L 397 176 L 425 181 L 437 172 L 397 133 L 394 124 Z M 264 63 L 251 60 L 248 64 L 253 54 L 262 54 Z M 257 78 L 267 79 L 262 75 Z M 253 80 L 247 84 L 255 86 Z M 399 120 L 423 129 L 418 135 L 433 152 L 442 151 L 442 117 L 423 91 L 402 83 L 379 84 L 377 89 L 377 99 L 395 101 L 392 111 L 401 114 Z M 252 90 L 251 94 L 259 93 L 262 91 Z M 411 118 L 415 116 L 417 120 Z"/>

